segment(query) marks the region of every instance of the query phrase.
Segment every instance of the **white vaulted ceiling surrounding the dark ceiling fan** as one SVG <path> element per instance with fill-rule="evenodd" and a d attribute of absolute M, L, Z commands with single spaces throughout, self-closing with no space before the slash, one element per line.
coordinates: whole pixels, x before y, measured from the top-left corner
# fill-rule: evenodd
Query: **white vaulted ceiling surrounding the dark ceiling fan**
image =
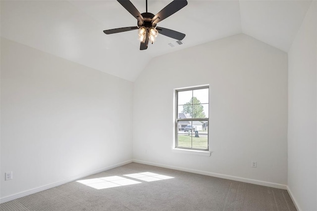
<path fill-rule="evenodd" d="M 285 52 L 312 0 L 188 0 L 158 23 L 186 34 L 183 45 L 159 35 L 139 50 L 137 31 L 106 35 L 105 29 L 136 26 L 116 0 L 1 0 L 1 37 L 134 81 L 156 56 L 244 33 Z M 140 13 L 145 0 L 131 0 Z M 171 0 L 148 0 L 157 14 Z"/>

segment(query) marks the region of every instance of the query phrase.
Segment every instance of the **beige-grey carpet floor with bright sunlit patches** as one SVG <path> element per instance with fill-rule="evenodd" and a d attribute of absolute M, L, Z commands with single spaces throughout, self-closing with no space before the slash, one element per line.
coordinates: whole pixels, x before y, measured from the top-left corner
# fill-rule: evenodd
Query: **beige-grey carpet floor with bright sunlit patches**
<path fill-rule="evenodd" d="M 296 211 L 296 208 L 286 190 L 131 163 L 80 182 L 2 203 L 0 210 Z"/>

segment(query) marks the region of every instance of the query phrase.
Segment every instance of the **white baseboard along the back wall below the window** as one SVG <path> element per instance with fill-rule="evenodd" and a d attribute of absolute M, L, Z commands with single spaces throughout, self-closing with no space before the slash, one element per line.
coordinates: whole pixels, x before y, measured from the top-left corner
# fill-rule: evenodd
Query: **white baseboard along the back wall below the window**
<path fill-rule="evenodd" d="M 287 190 L 287 185 L 273 183 L 273 182 L 266 182 L 266 181 L 261 181 L 261 180 L 256 180 L 256 179 L 248 179 L 248 178 L 243 178 L 243 177 L 238 177 L 238 176 L 230 176 L 230 175 L 220 174 L 220 173 L 212 173 L 212 172 L 202 171 L 202 170 L 186 169 L 186 168 L 168 166 L 168 165 L 157 164 L 157 163 L 152 163 L 152 162 L 147 162 L 147 161 L 140 161 L 140 160 L 132 160 L 132 161 L 135 163 L 146 164 L 146 165 L 156 166 L 156 167 L 162 167 L 162 168 L 166 168 L 166 169 L 181 170 L 181 171 L 186 171 L 186 172 L 191 172 L 191 173 L 198 173 L 198 174 L 203 174 L 203 175 L 207 175 L 207 176 L 214 176 L 214 177 L 219 177 L 219 178 L 223 178 L 223 179 L 230 179 L 230 180 L 239 181 L 239 182 L 246 182 L 246 183 L 251 183 L 251 184 L 256 184 L 256 185 L 263 185 L 263 186 L 267 186 L 267 187 Z"/>

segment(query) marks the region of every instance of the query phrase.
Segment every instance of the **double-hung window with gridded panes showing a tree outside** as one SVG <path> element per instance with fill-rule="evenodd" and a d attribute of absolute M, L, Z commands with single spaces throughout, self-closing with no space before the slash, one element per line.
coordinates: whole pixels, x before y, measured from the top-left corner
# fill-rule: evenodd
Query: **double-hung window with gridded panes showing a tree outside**
<path fill-rule="evenodd" d="M 209 86 L 175 90 L 175 147 L 209 150 Z"/>

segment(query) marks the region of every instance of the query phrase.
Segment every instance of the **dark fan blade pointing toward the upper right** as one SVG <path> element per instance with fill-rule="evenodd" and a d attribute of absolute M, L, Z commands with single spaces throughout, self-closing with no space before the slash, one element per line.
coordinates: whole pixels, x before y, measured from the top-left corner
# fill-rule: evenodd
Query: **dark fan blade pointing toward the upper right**
<path fill-rule="evenodd" d="M 173 0 L 152 18 L 152 23 L 159 23 L 187 5 L 187 0 Z"/>

